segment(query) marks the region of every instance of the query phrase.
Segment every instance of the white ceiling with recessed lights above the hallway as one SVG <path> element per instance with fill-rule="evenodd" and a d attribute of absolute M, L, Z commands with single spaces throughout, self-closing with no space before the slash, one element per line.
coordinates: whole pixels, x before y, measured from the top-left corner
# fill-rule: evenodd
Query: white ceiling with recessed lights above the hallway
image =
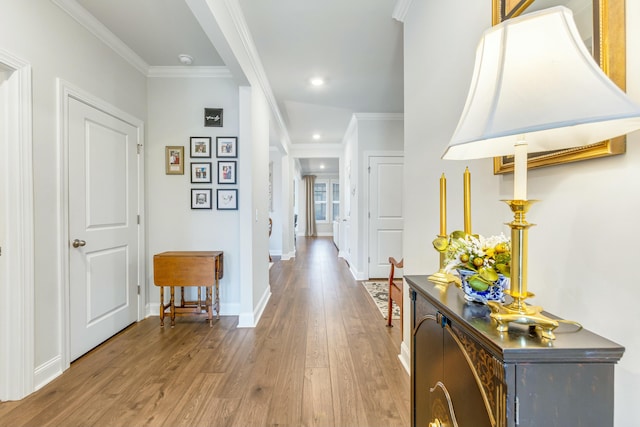
<path fill-rule="evenodd" d="M 193 57 L 192 67 L 225 65 L 185 0 L 53 1 L 103 25 L 149 67 L 181 66 L 180 54 Z M 292 146 L 341 143 L 354 113 L 403 111 L 396 0 L 235 1 Z M 316 76 L 323 86 L 310 84 Z M 303 173 L 330 173 L 311 170 L 318 160 L 302 161 Z M 322 160 L 337 173 L 337 159 Z"/>

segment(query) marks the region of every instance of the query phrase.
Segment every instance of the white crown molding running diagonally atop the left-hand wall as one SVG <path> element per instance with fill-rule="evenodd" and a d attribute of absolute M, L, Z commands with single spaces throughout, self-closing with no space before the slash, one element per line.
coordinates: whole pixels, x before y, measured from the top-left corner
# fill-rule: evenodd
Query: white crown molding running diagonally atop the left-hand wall
<path fill-rule="evenodd" d="M 142 74 L 147 75 L 149 64 L 147 64 L 138 54 L 136 54 L 122 40 L 116 37 L 107 27 L 98 21 L 92 14 L 87 12 L 85 8 L 80 6 L 75 0 L 51 0 L 53 4 L 65 11 L 69 16 L 75 19 L 80 25 L 85 27 L 109 46 L 114 52 L 124 58 Z"/>

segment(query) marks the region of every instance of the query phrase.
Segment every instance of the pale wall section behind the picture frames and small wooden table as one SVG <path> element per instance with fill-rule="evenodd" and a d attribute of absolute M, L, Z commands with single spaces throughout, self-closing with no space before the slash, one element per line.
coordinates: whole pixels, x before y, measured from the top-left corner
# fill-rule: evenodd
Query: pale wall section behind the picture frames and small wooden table
<path fill-rule="evenodd" d="M 224 110 L 223 127 L 204 127 L 205 107 Z M 220 281 L 222 314 L 238 314 L 240 269 L 238 211 L 218 211 L 216 190 L 238 188 L 217 180 L 217 161 L 235 160 L 241 171 L 249 156 L 238 140 L 237 159 L 216 158 L 217 136 L 238 136 L 238 86 L 230 77 L 152 77 L 148 81 L 147 171 L 147 295 L 149 312 L 159 313 L 159 290 L 154 285 L 153 255 L 172 250 L 224 251 Z M 190 137 L 211 138 L 211 158 L 190 157 Z M 184 147 L 184 175 L 165 174 L 165 146 Z M 192 184 L 191 162 L 210 162 L 211 184 Z M 238 178 L 238 177 L 237 177 Z M 212 209 L 191 209 L 191 189 L 212 189 Z M 266 255 L 265 255 L 266 257 Z M 195 291 L 195 289 L 190 289 Z"/>

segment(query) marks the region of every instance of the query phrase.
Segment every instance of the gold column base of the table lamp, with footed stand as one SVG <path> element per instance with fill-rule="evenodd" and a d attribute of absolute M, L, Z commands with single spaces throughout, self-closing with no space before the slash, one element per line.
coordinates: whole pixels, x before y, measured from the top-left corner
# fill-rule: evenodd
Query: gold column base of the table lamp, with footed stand
<path fill-rule="evenodd" d="M 553 340 L 555 339 L 553 331 L 558 327 L 558 321 L 543 315 L 542 307 L 529 306 L 525 303 L 527 298 L 534 296 L 527 290 L 527 258 L 529 228 L 535 225 L 527 222 L 526 214 L 537 200 L 504 200 L 504 202 L 514 213 L 514 220 L 507 224 L 511 227 L 511 287 L 505 291 L 513 301 L 509 304 L 488 302 L 491 317 L 498 323 L 500 332 L 506 332 L 509 329 L 509 323 L 514 322 L 535 327 L 541 336 Z"/>

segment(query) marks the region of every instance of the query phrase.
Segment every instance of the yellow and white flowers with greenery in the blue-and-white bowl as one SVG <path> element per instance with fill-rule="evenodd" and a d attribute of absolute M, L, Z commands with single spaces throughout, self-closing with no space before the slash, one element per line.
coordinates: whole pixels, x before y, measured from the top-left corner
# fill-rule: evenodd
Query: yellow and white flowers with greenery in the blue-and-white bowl
<path fill-rule="evenodd" d="M 486 291 L 502 274 L 511 276 L 511 241 L 500 234 L 484 237 L 455 231 L 446 242 L 434 246 L 444 253 L 444 271 L 469 270 L 466 277 L 469 286 L 476 291 Z"/>

